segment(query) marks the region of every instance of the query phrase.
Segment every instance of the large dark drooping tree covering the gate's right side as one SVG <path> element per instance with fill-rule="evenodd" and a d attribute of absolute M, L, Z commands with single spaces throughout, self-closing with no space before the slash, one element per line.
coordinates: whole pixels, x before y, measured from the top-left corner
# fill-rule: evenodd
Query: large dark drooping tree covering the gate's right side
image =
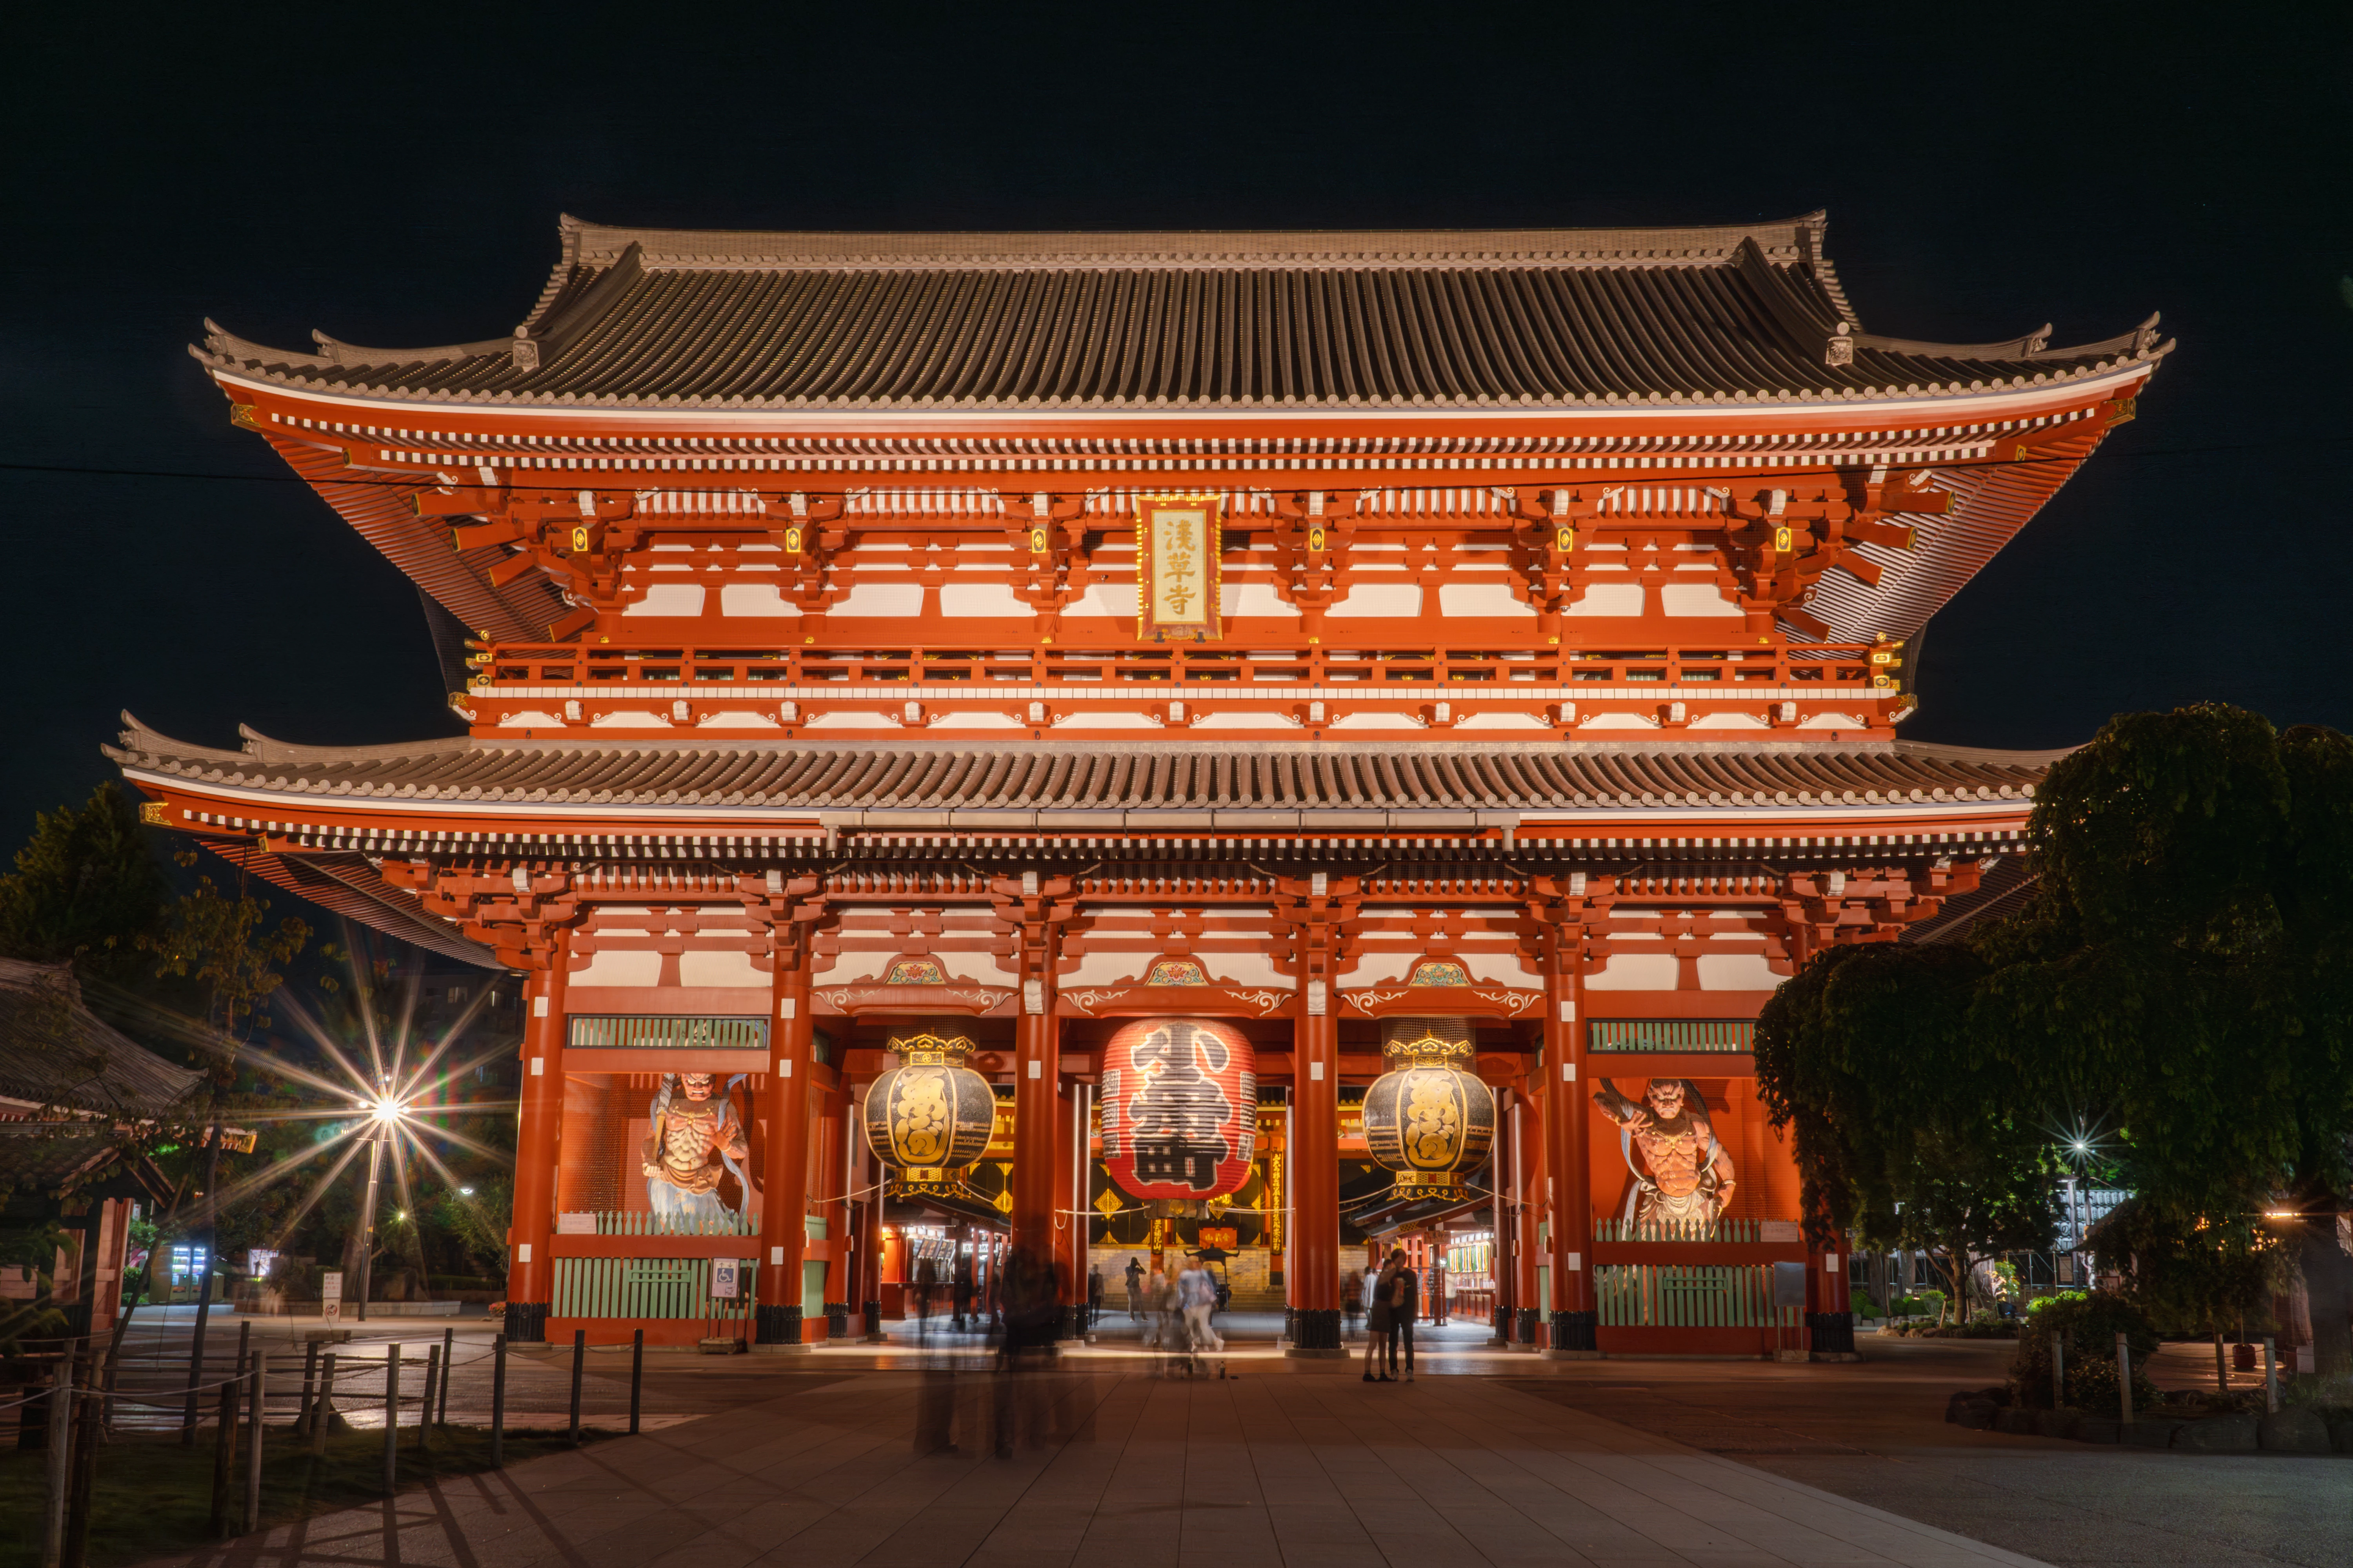
<path fill-rule="evenodd" d="M 1812 1201 L 1868 1234 L 1906 1140 L 1934 1138 L 1986 1161 L 1998 1208 L 2021 1133 L 2089 1121 L 2137 1222 L 2217 1276 L 2261 1279 L 2235 1260 L 2268 1227 L 2320 1371 L 2353 1371 L 2353 741 L 2125 715 L 2049 771 L 2028 842 L 2035 896 L 1972 952 L 1826 954 L 1767 1006 L 1760 1086 Z"/>

